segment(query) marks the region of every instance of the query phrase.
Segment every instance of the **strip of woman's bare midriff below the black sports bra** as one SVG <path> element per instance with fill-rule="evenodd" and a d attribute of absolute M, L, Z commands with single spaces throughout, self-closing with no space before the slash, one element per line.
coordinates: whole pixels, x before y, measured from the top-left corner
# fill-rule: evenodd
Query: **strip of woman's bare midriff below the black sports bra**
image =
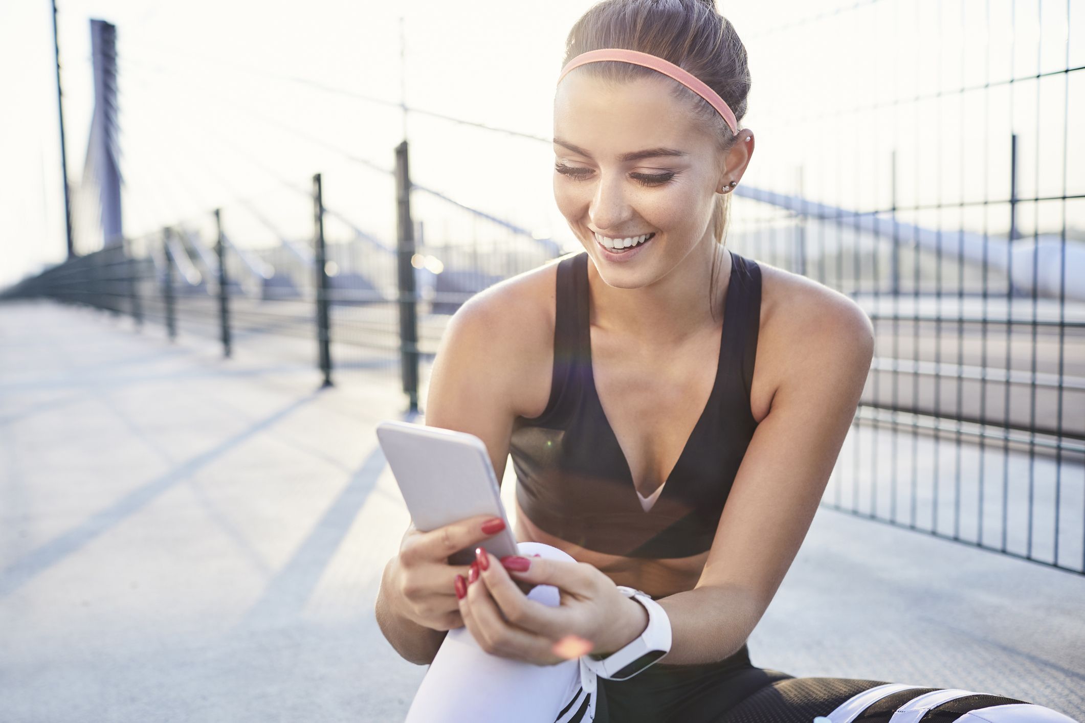
<path fill-rule="evenodd" d="M 614 584 L 642 590 L 652 597 L 665 597 L 692 590 L 701 577 L 709 551 L 691 557 L 641 558 L 608 555 L 556 538 L 536 527 L 516 500 L 518 542 L 542 542 L 569 553 L 579 563 L 588 563 L 602 570 Z"/>

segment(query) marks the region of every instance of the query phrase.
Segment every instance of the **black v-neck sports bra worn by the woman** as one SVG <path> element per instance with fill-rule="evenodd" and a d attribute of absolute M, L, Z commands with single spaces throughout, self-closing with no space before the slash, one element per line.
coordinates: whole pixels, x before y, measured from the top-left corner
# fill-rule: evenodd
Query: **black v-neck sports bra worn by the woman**
<path fill-rule="evenodd" d="M 539 416 L 514 419 L 510 442 L 516 501 L 536 527 L 582 547 L 626 557 L 688 557 L 712 546 L 757 426 L 750 388 L 761 268 L 728 253 L 731 273 L 712 393 L 650 506 L 633 483 L 596 390 L 588 254 L 558 262 L 550 399 Z"/>

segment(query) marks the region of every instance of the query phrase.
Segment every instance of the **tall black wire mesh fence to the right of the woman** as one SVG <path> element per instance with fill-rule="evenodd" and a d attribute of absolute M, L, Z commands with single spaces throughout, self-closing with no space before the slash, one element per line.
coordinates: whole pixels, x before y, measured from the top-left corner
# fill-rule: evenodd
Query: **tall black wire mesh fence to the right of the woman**
<path fill-rule="evenodd" d="M 773 88 L 746 121 L 778 153 L 732 227 L 876 327 L 824 503 L 1077 572 L 1082 21 L 1071 2 L 872 0 L 744 34 Z"/>

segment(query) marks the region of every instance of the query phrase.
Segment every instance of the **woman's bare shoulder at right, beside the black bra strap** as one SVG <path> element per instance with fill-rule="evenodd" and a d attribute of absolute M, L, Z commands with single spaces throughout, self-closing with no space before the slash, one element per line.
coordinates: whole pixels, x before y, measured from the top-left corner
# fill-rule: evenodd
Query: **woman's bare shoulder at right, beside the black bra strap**
<path fill-rule="evenodd" d="M 830 365 L 866 377 L 873 353 L 870 318 L 846 295 L 813 279 L 757 261 L 762 271 L 757 374 L 763 413 L 780 386 L 808 380 Z M 756 377 L 756 374 L 755 374 Z M 755 417 L 762 418 L 756 414 Z"/>

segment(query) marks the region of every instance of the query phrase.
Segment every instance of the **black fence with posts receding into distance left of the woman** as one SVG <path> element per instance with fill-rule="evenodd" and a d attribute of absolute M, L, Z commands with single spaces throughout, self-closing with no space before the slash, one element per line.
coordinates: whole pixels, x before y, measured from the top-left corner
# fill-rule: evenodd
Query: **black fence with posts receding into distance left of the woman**
<path fill-rule="evenodd" d="M 304 192 L 308 209 L 296 203 L 296 186 L 290 202 L 278 192 L 246 197 L 72 258 L 2 296 L 50 297 L 130 315 L 137 327 L 161 325 L 169 339 L 215 338 L 227 358 L 237 348 L 259 347 L 293 360 L 301 353 L 326 385 L 333 383 L 334 371 L 382 371 L 390 379 L 399 377 L 409 406 L 417 409 L 424 383 L 420 367 L 435 356 L 456 309 L 561 251 L 534 238 L 525 248 L 516 243 L 524 232 L 513 224 L 412 183 L 406 142 L 395 149 L 395 158 L 393 243 L 328 208 L 318 173 L 311 191 Z M 412 212 L 412 198 L 420 194 L 444 214 L 444 233 L 427 233 Z M 231 211 L 252 216 L 259 206 L 284 203 L 298 216 L 311 214 L 307 237 L 284 234 L 259 217 L 278 245 L 234 242 Z"/>

